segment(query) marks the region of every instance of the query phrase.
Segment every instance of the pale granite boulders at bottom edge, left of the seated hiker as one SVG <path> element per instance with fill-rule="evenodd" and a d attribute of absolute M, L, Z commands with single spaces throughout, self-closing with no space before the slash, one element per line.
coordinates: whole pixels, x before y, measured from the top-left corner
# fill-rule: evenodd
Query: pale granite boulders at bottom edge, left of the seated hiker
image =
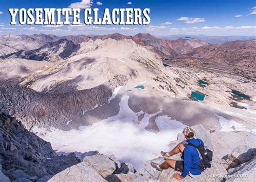
<path fill-rule="evenodd" d="M 114 156 L 86 156 L 83 162 L 56 174 L 49 181 L 133 181 L 139 178 L 134 167 L 120 164 Z"/>

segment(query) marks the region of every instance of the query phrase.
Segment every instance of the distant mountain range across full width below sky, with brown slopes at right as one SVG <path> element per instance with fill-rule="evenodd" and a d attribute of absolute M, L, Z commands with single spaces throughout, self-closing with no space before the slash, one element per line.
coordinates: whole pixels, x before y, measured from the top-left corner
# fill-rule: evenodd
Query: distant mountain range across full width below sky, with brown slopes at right
<path fill-rule="evenodd" d="M 172 37 L 174 38 L 174 37 Z M 222 40 L 249 37 L 207 37 L 198 38 Z M 221 64 L 238 64 L 241 67 L 254 67 L 256 55 L 256 41 L 235 40 L 220 45 L 212 45 L 205 40 L 195 37 L 183 37 L 176 40 L 154 37 L 149 33 L 139 33 L 135 36 L 125 36 L 120 33 L 106 34 L 104 36 L 65 36 L 58 37 L 51 34 L 33 34 L 31 36 L 8 35 L 0 38 L 2 47 L 0 55 L 2 58 L 16 57 L 37 61 L 54 61 L 66 59 L 73 55 L 87 53 L 104 47 L 105 40 L 131 40 L 135 44 L 144 46 L 147 50 L 154 52 L 161 59 L 171 60 L 173 58 L 200 58 L 219 62 Z M 100 42 L 99 40 L 102 40 Z M 88 44 L 90 41 L 91 46 Z M 94 47 L 93 47 L 94 46 Z"/>

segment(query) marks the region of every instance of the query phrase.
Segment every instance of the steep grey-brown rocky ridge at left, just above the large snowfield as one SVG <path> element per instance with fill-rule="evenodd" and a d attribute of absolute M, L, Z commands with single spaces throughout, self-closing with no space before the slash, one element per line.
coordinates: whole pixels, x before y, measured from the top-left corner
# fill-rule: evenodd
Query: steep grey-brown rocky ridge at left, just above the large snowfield
<path fill-rule="evenodd" d="M 1 108 L 10 115 L 22 118 L 28 129 L 42 124 L 57 127 L 65 126 L 67 121 L 76 123 L 83 117 L 83 109 L 90 110 L 97 104 L 108 103 L 112 95 L 111 87 L 106 85 L 75 92 L 70 90 L 66 93 L 47 94 L 12 84 L 15 81 L 10 82 L 2 82 L 0 86 Z"/>

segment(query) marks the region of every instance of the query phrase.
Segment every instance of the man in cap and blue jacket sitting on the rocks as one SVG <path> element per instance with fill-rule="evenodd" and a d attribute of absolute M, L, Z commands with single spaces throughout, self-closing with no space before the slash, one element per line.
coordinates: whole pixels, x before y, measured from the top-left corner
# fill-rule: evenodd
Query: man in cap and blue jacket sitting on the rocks
<path fill-rule="evenodd" d="M 187 176 L 187 174 L 192 178 L 196 178 L 204 170 L 199 167 L 201 166 L 201 160 L 196 146 L 201 144 L 204 148 L 204 143 L 201 141 L 201 139 L 194 138 L 196 133 L 190 127 L 186 127 L 183 130 L 183 134 L 186 141 L 179 143 L 170 152 L 161 151 L 161 155 L 166 159 L 166 161 L 163 164 L 151 162 L 151 166 L 156 168 L 158 171 L 163 171 L 164 169 L 172 167 L 174 170 L 181 172 L 181 174 L 177 172 L 173 175 L 173 178 L 176 179 L 183 179 Z M 171 156 L 179 152 L 182 153 L 181 158 L 184 160 L 169 159 Z"/>

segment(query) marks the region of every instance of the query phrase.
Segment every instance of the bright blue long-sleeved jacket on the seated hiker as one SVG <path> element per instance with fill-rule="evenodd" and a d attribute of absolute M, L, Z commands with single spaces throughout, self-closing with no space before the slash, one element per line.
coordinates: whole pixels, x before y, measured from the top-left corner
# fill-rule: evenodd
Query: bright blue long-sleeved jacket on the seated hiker
<path fill-rule="evenodd" d="M 199 141 L 201 142 L 201 144 L 204 145 L 204 142 L 201 141 L 201 139 L 199 139 Z M 192 143 L 197 146 L 200 144 L 199 141 L 198 139 L 195 139 L 195 138 L 186 140 L 187 143 Z M 202 172 L 201 169 L 193 169 L 198 167 L 201 164 L 198 150 L 193 146 L 186 145 L 183 151 L 183 155 L 184 155 L 184 168 L 183 168 L 183 172 L 181 173 L 181 176 L 185 178 L 188 172 L 190 172 L 193 175 L 201 174 Z"/>

